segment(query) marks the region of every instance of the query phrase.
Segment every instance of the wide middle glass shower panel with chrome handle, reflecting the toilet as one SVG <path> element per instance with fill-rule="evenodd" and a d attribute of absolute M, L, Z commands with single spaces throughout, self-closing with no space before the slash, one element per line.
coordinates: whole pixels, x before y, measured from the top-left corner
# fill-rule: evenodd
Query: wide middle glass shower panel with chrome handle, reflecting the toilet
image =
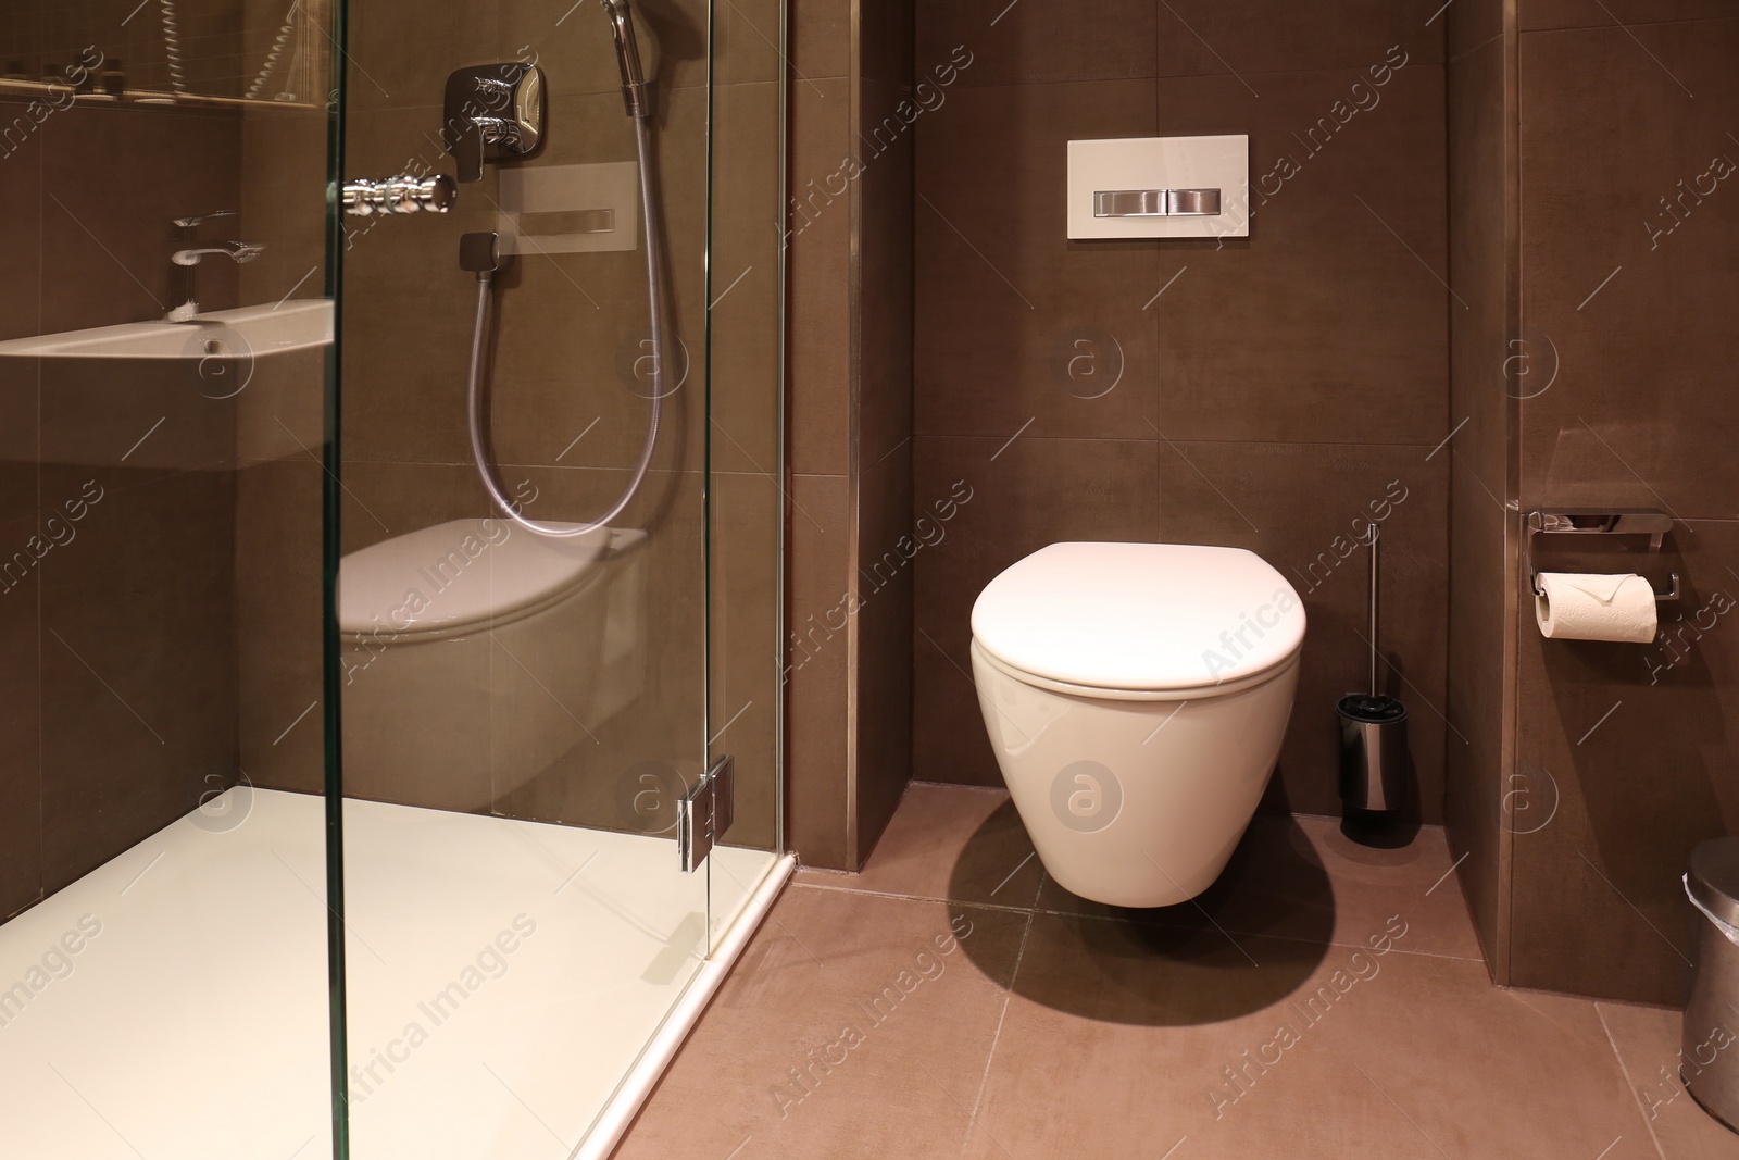
<path fill-rule="evenodd" d="M 642 165 L 600 5 L 440 9 L 351 3 L 344 177 L 470 177 L 447 146 L 492 110 L 537 143 L 483 125 L 449 212 L 346 219 L 343 1099 L 358 1160 L 556 1158 L 708 953 L 708 875 L 676 850 L 708 767 L 706 12 L 636 14 Z M 459 70 L 482 71 L 449 108 Z"/>

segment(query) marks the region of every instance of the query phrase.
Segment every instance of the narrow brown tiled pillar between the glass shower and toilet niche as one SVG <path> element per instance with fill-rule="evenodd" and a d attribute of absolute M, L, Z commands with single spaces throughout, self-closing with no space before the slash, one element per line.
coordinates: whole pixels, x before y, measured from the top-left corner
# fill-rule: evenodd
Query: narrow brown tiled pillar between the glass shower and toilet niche
<path fill-rule="evenodd" d="M 909 520 L 913 120 L 927 115 L 911 101 L 911 21 L 909 3 L 793 12 L 791 492 L 796 504 L 803 490 L 843 487 L 849 527 L 843 544 L 812 544 L 805 558 L 803 537 L 819 532 L 802 511 L 790 523 L 790 838 L 805 861 L 847 870 L 868 857 L 909 777 L 909 576 L 863 610 L 852 603 L 875 588 L 871 544 Z M 925 90 L 929 113 L 937 99 Z M 817 610 L 838 623 L 817 630 Z"/>

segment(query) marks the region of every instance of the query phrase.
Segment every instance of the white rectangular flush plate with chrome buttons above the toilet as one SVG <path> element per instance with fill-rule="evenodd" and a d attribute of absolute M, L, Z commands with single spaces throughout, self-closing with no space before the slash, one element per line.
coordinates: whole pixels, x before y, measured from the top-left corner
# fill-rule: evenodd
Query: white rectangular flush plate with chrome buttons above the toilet
<path fill-rule="evenodd" d="M 1212 191 L 1217 191 L 1217 205 Z M 1209 207 L 1217 212 L 1202 212 Z M 1250 139 L 1245 134 L 1069 141 L 1071 238 L 1243 238 L 1249 233 Z"/>

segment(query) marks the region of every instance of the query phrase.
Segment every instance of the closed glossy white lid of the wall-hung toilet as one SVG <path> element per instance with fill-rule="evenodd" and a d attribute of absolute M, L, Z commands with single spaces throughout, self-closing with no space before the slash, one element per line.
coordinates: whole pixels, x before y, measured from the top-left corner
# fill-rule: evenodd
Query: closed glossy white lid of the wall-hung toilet
<path fill-rule="evenodd" d="M 1243 548 L 1064 543 L 984 586 L 972 637 L 1035 677 L 1092 689 L 1207 689 L 1296 654 L 1304 605 Z"/>

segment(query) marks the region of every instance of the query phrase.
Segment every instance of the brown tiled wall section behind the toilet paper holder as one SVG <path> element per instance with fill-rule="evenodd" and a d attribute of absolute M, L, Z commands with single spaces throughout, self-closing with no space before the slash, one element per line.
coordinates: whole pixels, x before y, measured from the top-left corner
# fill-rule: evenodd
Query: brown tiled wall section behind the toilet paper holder
<path fill-rule="evenodd" d="M 1549 544 L 1549 560 L 1676 569 L 1685 597 L 1649 647 L 1542 640 L 1518 610 L 1516 774 L 1558 809 L 1513 842 L 1509 977 L 1669 1003 L 1690 917 L 1678 875 L 1736 817 L 1736 652 L 1715 605 L 1739 562 L 1739 412 L 1716 386 L 1739 355 L 1739 202 L 1697 181 L 1739 160 L 1718 113 L 1739 99 L 1739 19 L 1529 31 L 1518 52 L 1522 336 L 1549 337 L 1560 365 L 1522 402 L 1522 508 L 1673 513 L 1661 558 Z"/>

